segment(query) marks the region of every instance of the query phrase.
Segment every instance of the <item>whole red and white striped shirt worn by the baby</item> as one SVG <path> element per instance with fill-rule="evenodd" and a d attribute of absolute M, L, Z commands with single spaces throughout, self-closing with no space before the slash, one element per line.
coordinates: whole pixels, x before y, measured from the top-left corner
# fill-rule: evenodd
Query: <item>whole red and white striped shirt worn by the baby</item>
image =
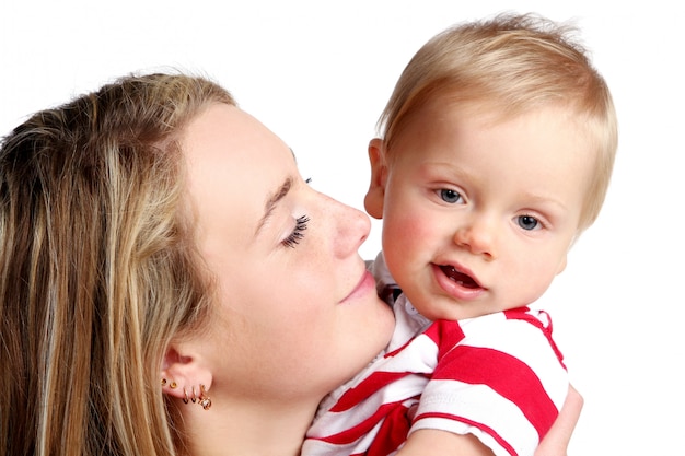
<path fill-rule="evenodd" d="M 322 402 L 302 456 L 388 456 L 419 429 L 533 455 L 569 386 L 548 315 L 520 307 L 430 321 L 404 295 L 393 308 L 388 350 Z"/>

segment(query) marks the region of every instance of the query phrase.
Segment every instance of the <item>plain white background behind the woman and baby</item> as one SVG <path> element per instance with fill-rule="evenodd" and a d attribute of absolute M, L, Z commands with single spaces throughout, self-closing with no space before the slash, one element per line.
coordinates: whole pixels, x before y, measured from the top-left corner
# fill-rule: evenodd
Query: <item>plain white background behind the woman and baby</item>
<path fill-rule="evenodd" d="M 367 143 L 429 37 L 512 8 L 576 19 L 612 87 L 620 143 L 603 213 L 542 300 L 585 398 L 569 453 L 685 454 L 685 17 L 666 0 L 468 3 L 0 0 L 0 132 L 114 77 L 172 66 L 230 89 L 314 187 L 362 209 Z"/>

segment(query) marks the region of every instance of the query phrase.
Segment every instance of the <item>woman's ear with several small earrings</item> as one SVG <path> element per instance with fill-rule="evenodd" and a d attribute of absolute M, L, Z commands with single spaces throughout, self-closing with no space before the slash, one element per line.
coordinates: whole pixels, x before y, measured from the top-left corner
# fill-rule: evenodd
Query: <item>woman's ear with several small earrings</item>
<path fill-rule="evenodd" d="M 183 344 L 172 344 L 164 353 L 160 378 L 164 394 L 188 400 L 199 395 L 200 385 L 210 388 L 212 374 L 201 356 L 193 354 Z"/>

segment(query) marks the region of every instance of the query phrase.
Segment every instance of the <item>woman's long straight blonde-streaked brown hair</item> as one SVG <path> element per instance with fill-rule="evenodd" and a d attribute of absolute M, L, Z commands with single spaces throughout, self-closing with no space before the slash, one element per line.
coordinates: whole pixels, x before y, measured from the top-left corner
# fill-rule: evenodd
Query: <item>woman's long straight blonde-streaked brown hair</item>
<path fill-rule="evenodd" d="M 184 208 L 184 127 L 231 95 L 123 78 L 39 112 L 0 149 L 0 454 L 172 455 L 174 337 L 208 316 Z"/>

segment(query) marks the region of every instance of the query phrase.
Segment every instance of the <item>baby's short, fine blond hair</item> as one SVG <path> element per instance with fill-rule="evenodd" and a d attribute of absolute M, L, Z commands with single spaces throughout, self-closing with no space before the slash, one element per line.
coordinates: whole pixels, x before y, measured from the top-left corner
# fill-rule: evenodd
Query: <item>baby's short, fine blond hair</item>
<path fill-rule="evenodd" d="M 608 86 L 585 49 L 571 39 L 573 32 L 538 15 L 504 13 L 434 36 L 405 68 L 379 120 L 391 160 L 411 116 L 437 97 L 481 104 L 501 113 L 501 119 L 541 106 L 567 107 L 596 152 L 582 232 L 596 219 L 606 195 L 617 121 Z"/>

